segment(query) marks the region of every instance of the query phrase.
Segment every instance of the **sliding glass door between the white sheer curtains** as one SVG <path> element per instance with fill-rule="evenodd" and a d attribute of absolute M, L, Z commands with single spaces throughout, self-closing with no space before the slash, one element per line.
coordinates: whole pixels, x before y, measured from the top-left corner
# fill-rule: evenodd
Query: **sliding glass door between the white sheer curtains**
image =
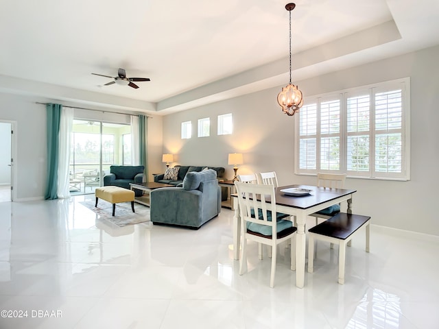
<path fill-rule="evenodd" d="M 131 164 L 131 127 L 73 120 L 70 154 L 71 194 L 94 193 L 112 164 Z"/>

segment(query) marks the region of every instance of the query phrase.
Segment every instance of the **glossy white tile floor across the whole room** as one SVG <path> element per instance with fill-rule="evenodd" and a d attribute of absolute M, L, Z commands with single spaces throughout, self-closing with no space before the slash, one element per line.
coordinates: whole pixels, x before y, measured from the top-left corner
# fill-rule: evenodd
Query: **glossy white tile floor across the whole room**
<path fill-rule="evenodd" d="M 363 234 L 346 252 L 344 285 L 320 242 L 304 289 L 280 247 L 270 289 L 257 245 L 239 276 L 230 210 L 198 231 L 99 230 L 85 198 L 0 203 L 0 328 L 439 328 L 437 242 L 372 227 L 369 254 Z"/>

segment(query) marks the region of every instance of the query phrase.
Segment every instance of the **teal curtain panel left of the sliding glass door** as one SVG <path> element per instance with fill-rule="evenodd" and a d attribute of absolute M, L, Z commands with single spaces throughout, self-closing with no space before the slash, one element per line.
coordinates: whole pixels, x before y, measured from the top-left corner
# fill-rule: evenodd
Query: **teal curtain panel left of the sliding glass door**
<path fill-rule="evenodd" d="M 61 104 L 49 103 L 47 110 L 47 179 L 46 200 L 57 199 L 58 189 L 58 147 L 60 132 Z"/>

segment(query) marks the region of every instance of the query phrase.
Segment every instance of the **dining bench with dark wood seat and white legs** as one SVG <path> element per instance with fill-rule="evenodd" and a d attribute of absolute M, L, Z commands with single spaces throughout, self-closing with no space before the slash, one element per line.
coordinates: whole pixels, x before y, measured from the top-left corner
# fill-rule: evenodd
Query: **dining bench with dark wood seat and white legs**
<path fill-rule="evenodd" d="M 308 230 L 308 272 L 313 272 L 314 240 L 327 241 L 339 245 L 338 283 L 344 284 L 344 265 L 346 263 L 346 245 L 361 228 L 366 228 L 366 252 L 369 252 L 370 216 L 339 212 Z"/>

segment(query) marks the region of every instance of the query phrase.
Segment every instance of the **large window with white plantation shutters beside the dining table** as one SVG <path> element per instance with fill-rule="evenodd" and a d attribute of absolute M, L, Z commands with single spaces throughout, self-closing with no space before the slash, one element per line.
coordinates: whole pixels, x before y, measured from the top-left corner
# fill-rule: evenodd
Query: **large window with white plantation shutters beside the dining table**
<path fill-rule="evenodd" d="M 410 179 L 410 78 L 305 99 L 296 174 Z"/>

